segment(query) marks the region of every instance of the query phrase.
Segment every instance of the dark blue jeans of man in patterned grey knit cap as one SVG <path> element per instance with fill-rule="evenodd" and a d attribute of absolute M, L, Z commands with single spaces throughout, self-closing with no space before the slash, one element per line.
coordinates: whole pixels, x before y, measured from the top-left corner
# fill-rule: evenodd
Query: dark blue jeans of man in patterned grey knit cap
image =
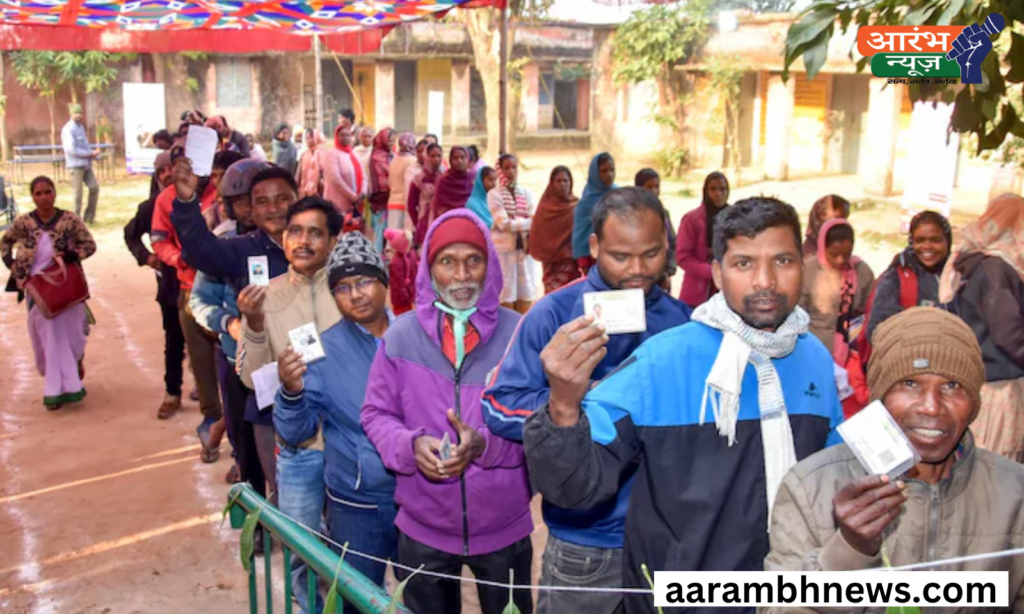
<path fill-rule="evenodd" d="M 398 529 L 394 526 L 394 517 L 398 509 L 394 503 L 380 503 L 376 507 L 344 502 L 328 493 L 327 519 L 331 531 L 331 539 L 338 543 L 348 542 L 348 549 L 373 555 L 380 559 L 397 558 Z M 334 547 L 334 546 L 332 546 Z M 335 547 L 335 550 L 338 550 Z M 387 565 L 377 563 L 362 557 L 348 555 L 345 562 L 359 573 L 370 578 L 379 586 L 384 585 L 384 572 Z M 356 610 L 345 604 L 345 614 Z"/>

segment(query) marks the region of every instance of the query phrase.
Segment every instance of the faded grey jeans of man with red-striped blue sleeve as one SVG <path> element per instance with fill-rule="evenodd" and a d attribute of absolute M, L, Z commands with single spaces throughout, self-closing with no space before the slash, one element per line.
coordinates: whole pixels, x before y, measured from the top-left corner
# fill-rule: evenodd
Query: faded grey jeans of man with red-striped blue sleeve
<path fill-rule="evenodd" d="M 541 585 L 618 588 L 623 585 L 623 550 L 578 545 L 549 534 Z M 622 608 L 623 596 L 615 593 L 541 590 L 537 601 L 537 614 L 617 614 Z"/>

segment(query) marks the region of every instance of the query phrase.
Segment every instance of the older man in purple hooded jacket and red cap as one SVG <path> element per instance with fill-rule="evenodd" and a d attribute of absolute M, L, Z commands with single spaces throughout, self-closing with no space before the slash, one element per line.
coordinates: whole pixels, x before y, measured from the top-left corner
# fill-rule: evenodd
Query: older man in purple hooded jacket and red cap
<path fill-rule="evenodd" d="M 529 484 L 522 446 L 493 435 L 480 396 L 519 321 L 501 308 L 501 263 L 490 233 L 459 209 L 423 245 L 416 311 L 395 320 L 370 369 L 362 428 L 397 475 L 398 562 L 507 584 L 530 577 Z M 451 445 L 444 442 L 445 436 Z M 399 570 L 398 577 L 408 572 Z M 500 614 L 506 588 L 478 587 L 483 614 Z M 417 614 L 454 614 L 457 580 L 416 575 L 404 593 Z M 516 590 L 522 614 L 528 590 Z"/>

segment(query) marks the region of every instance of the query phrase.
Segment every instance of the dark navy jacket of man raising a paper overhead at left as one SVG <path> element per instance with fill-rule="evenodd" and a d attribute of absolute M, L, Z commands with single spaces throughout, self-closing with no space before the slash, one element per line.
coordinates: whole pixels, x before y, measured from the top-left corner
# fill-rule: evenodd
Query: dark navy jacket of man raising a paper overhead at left
<path fill-rule="evenodd" d="M 266 256 L 270 278 L 288 272 L 285 251 L 261 229 L 231 238 L 217 238 L 206 225 L 199 203 L 174 199 L 171 224 L 181 243 L 181 255 L 188 266 L 211 277 L 220 277 L 241 292 L 249 286 L 249 257 Z"/>

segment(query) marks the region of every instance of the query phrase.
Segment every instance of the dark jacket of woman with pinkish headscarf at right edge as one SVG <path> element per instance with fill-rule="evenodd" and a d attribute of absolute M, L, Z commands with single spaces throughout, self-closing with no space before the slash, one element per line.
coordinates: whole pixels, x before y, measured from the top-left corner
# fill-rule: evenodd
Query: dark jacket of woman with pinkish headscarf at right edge
<path fill-rule="evenodd" d="M 953 263 L 961 272 L 954 311 L 981 344 L 985 380 L 1024 378 L 1024 281 L 1001 258 L 964 254 Z"/>

